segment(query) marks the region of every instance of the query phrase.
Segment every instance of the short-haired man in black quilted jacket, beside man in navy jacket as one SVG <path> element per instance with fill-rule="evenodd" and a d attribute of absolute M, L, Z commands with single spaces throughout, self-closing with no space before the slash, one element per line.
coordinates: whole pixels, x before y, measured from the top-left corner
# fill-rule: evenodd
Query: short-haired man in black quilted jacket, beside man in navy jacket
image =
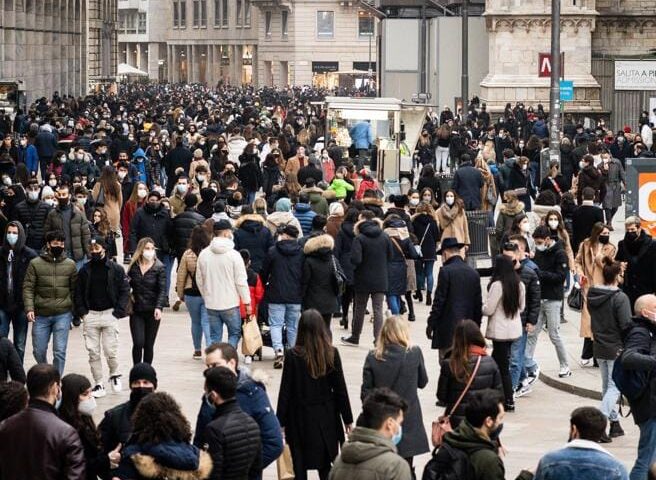
<path fill-rule="evenodd" d="M 212 457 L 212 480 L 257 479 L 262 475 L 262 444 L 258 424 L 236 400 L 237 377 L 227 367 L 205 372 L 207 400 L 213 420 L 205 427 L 207 452 Z M 298 474 L 297 474 L 298 478 Z"/>

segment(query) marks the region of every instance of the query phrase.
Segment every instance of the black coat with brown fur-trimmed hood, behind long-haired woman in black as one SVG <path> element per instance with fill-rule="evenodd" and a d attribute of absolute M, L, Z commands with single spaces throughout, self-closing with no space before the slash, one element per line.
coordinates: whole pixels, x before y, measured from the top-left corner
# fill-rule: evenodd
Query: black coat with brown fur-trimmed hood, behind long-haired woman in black
<path fill-rule="evenodd" d="M 303 253 L 303 309 L 315 308 L 322 315 L 337 311 L 333 281 L 333 237 L 318 235 L 305 242 Z"/>

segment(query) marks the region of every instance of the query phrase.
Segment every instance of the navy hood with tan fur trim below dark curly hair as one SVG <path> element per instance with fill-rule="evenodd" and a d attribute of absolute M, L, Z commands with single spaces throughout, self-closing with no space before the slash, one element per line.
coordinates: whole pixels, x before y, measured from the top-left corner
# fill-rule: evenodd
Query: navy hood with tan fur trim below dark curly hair
<path fill-rule="evenodd" d="M 210 455 L 187 443 L 164 442 L 136 447 L 138 451 L 130 452 L 130 458 L 145 478 L 193 480 L 208 478 L 212 471 Z"/>

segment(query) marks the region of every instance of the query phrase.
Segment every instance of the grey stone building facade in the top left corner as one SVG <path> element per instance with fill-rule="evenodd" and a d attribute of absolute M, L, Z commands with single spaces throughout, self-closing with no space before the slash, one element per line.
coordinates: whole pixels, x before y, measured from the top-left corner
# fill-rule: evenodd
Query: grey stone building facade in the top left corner
<path fill-rule="evenodd" d="M 116 72 L 116 0 L 5 0 L 0 80 L 22 82 L 27 102 L 54 91 L 84 95 Z"/>

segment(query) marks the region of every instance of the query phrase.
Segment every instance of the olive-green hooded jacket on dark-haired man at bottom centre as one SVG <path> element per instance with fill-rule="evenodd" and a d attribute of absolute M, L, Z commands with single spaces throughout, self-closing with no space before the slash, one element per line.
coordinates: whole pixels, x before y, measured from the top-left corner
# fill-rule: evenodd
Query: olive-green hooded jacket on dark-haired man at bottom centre
<path fill-rule="evenodd" d="M 369 428 L 355 427 L 330 470 L 330 480 L 410 480 L 408 462 L 391 440 Z"/>

